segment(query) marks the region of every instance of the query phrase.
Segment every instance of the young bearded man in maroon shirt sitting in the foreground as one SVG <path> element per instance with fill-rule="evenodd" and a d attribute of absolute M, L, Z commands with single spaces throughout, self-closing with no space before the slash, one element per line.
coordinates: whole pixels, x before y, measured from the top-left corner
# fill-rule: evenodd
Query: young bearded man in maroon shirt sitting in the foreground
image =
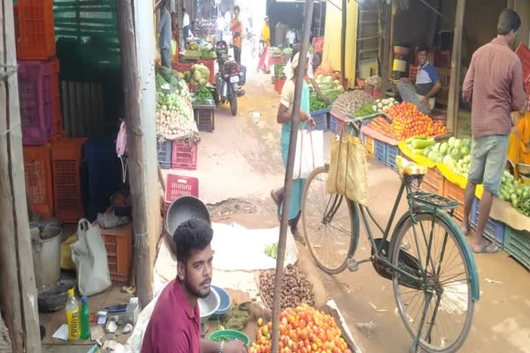
<path fill-rule="evenodd" d="M 212 237 L 210 225 L 199 219 L 190 219 L 175 230 L 177 278 L 159 296 L 141 353 L 246 353 L 240 341 L 217 343 L 201 339 L 197 299 L 210 294 Z"/>

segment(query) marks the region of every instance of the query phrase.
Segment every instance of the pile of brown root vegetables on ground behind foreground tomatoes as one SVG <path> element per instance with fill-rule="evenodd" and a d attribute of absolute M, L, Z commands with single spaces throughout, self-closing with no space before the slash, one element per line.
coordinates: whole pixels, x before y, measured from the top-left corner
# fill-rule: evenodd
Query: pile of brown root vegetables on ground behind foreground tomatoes
<path fill-rule="evenodd" d="M 262 299 L 271 308 L 273 307 L 274 277 L 274 270 L 268 270 L 259 275 L 259 291 Z M 315 305 L 313 285 L 307 281 L 306 275 L 299 268 L 287 265 L 284 270 L 280 306 L 282 309 L 286 309 L 297 307 L 302 303 Z"/>

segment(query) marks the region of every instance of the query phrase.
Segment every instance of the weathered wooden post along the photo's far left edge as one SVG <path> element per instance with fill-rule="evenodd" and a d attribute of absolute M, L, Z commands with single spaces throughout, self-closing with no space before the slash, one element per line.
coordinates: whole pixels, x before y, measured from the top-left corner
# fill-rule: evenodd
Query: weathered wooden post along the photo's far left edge
<path fill-rule="evenodd" d="M 41 352 L 12 0 L 0 0 L 0 306 L 12 352 Z"/>

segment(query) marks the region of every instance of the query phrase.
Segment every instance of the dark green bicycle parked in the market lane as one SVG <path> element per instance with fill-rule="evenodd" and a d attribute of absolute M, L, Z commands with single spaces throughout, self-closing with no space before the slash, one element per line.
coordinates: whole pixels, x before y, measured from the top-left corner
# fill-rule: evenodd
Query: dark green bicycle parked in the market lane
<path fill-rule="evenodd" d="M 349 121 L 344 129 L 358 138 L 362 123 L 381 116 L 391 122 L 386 114 L 373 114 Z M 369 208 L 346 196 L 327 194 L 329 165 L 313 170 L 302 199 L 306 244 L 315 263 L 328 274 L 346 268 L 354 272 L 360 264 L 371 262 L 377 274 L 392 281 L 397 310 L 413 338 L 410 352 L 417 351 L 418 345 L 426 352 L 455 352 L 467 338 L 480 296 L 471 250 L 452 218 L 458 202 L 418 191 L 413 184 L 421 184 L 426 168 L 402 157 L 397 157 L 397 163 L 402 183 L 386 228 L 377 223 Z M 405 193 L 409 210 L 397 221 L 388 240 Z M 371 256 L 355 261 L 360 220 Z M 369 220 L 382 238 L 374 238 Z"/>

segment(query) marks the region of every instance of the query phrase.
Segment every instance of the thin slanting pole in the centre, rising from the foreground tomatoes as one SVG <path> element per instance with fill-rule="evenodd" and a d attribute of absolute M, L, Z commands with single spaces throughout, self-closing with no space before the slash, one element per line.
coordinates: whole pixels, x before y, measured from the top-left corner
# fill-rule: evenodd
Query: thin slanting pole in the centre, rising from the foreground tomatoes
<path fill-rule="evenodd" d="M 281 310 L 280 298 L 282 293 L 282 281 L 284 275 L 285 247 L 287 239 L 287 225 L 289 221 L 289 205 L 291 201 L 291 191 L 293 189 L 293 170 L 295 168 L 296 140 L 298 136 L 298 125 L 300 123 L 300 103 L 302 101 L 302 85 L 304 84 L 304 74 L 306 72 L 306 57 L 309 47 L 309 32 L 311 31 L 311 20 L 313 19 L 314 0 L 306 0 L 304 27 L 302 28 L 302 43 L 300 46 L 300 62 L 295 81 L 295 97 L 293 102 L 293 120 L 291 121 L 291 138 L 289 139 L 289 152 L 285 171 L 284 201 L 282 221 L 279 226 L 278 254 L 276 257 L 276 272 L 274 279 L 273 295 L 273 347 L 272 352 L 278 353 L 279 343 L 279 312 Z"/>

